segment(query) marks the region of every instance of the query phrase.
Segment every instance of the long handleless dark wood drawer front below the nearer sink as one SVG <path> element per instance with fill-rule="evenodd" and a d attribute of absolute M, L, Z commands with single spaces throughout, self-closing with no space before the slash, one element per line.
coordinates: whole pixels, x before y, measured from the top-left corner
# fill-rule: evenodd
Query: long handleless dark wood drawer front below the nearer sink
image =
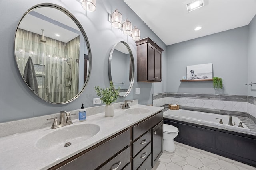
<path fill-rule="evenodd" d="M 105 161 L 130 145 L 131 130 L 128 129 L 115 137 L 106 139 L 104 143 L 96 144 L 93 149 L 88 149 L 79 154 L 61 162 L 60 164 L 51 168 L 52 170 L 94 170 L 101 166 Z M 98 145 L 98 146 L 97 146 Z M 130 147 L 129 147 L 130 148 Z M 93 161 L 92 161 L 93 160 Z"/>

